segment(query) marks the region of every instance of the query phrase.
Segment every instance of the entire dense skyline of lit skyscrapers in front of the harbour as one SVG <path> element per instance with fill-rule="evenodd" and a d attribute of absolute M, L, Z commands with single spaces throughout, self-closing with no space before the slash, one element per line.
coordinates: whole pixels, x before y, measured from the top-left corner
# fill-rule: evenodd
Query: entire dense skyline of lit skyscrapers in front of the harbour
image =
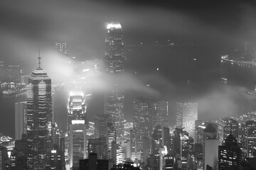
<path fill-rule="evenodd" d="M 66 44 L 56 44 L 66 53 Z M 168 123 L 169 102 L 135 98 L 133 121 L 124 120 L 124 73 L 120 23 L 107 25 L 105 73 L 113 77 L 104 114 L 86 118 L 85 94 L 71 91 L 66 132 L 58 129 L 51 79 L 41 68 L 28 77 L 27 100 L 15 104 L 15 145 L 0 147 L 2 169 L 252 169 L 256 157 L 255 114 L 198 120 L 198 103 L 176 103 L 176 126 Z M 250 118 L 249 120 L 247 118 Z"/>

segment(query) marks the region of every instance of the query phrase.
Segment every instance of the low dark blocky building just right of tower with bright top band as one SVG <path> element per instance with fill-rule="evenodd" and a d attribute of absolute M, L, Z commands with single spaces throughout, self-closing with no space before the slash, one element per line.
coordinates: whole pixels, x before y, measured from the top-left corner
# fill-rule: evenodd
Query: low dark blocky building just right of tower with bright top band
<path fill-rule="evenodd" d="M 97 153 L 97 159 L 107 159 L 106 137 L 88 139 L 88 153 Z"/>

